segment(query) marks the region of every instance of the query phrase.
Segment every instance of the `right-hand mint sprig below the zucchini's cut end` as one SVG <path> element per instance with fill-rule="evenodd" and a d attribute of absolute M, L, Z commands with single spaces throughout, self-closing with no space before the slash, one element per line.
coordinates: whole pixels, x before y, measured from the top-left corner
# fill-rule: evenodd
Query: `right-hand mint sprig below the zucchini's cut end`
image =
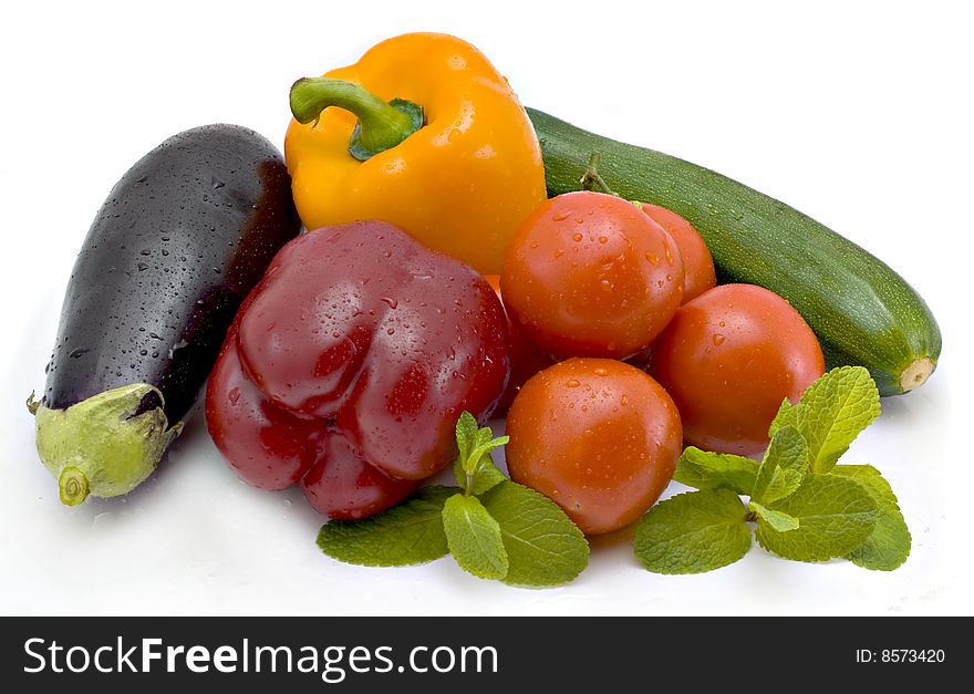
<path fill-rule="evenodd" d="M 879 411 L 869 372 L 843 366 L 812 383 L 798 403 L 781 403 L 760 464 L 688 447 L 674 479 L 701 491 L 646 512 L 636 557 L 657 573 L 716 569 L 747 552 L 752 522 L 758 543 L 786 559 L 847 558 L 895 569 L 911 538 L 890 485 L 874 467 L 836 465 Z M 750 497 L 746 506 L 737 495 Z"/>

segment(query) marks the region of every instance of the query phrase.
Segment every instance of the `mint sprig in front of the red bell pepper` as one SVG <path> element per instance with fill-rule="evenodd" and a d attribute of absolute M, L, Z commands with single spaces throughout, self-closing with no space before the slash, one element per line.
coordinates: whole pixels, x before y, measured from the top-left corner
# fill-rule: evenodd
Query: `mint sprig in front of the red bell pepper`
<path fill-rule="evenodd" d="M 584 535 L 555 501 L 510 481 L 490 457 L 507 444 L 468 412 L 457 419 L 458 487 L 425 487 L 384 514 L 331 521 L 318 537 L 334 559 L 406 566 L 447 553 L 483 579 L 549 587 L 573 580 L 589 561 Z"/>

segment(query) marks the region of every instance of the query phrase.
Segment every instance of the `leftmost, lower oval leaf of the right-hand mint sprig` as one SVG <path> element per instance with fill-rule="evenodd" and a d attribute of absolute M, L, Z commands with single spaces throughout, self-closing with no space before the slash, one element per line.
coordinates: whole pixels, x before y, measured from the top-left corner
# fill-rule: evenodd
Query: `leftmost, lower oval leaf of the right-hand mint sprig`
<path fill-rule="evenodd" d="M 640 520 L 636 559 L 654 573 L 703 573 L 750 548 L 747 509 L 731 489 L 690 491 L 660 501 Z"/>

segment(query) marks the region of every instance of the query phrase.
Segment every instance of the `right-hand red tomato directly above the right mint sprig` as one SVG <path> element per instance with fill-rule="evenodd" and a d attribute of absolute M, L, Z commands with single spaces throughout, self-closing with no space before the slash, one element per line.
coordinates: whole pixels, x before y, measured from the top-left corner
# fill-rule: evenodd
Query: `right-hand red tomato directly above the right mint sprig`
<path fill-rule="evenodd" d="M 781 401 L 797 402 L 825 360 L 785 299 L 723 284 L 676 312 L 653 345 L 650 373 L 673 396 L 688 443 L 747 455 L 767 446 Z"/>

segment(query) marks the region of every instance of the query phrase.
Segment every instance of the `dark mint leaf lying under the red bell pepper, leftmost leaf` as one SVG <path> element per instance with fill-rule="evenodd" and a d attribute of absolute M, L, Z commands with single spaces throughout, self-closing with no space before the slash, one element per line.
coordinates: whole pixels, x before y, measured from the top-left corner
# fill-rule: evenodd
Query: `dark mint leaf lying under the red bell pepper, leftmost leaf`
<path fill-rule="evenodd" d="M 404 567 L 447 553 L 443 506 L 456 487 L 424 487 L 383 514 L 362 520 L 332 520 L 321 527 L 318 547 L 329 557 L 366 567 Z"/>

